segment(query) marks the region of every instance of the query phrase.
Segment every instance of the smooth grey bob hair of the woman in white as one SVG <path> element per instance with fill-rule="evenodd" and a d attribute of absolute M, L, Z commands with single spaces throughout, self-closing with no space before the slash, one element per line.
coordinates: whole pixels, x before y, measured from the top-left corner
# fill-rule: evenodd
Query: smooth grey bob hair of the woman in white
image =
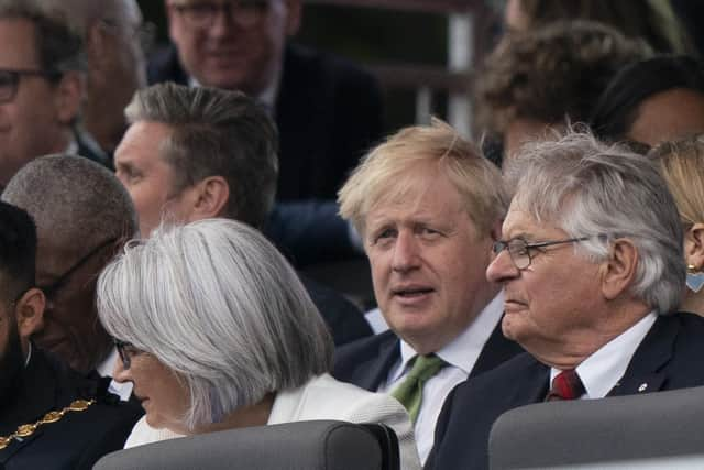
<path fill-rule="evenodd" d="M 332 340 L 295 271 L 229 219 L 160 227 L 98 280 L 100 320 L 190 392 L 189 429 L 327 372 Z"/>

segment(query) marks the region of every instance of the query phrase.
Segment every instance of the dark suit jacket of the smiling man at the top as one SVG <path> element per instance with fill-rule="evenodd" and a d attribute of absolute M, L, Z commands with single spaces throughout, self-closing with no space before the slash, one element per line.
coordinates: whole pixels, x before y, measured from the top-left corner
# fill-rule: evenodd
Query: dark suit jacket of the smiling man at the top
<path fill-rule="evenodd" d="M 174 46 L 155 55 L 150 84 L 188 83 Z M 288 45 L 276 99 L 278 200 L 334 199 L 348 172 L 383 134 L 377 81 L 342 58 Z"/>

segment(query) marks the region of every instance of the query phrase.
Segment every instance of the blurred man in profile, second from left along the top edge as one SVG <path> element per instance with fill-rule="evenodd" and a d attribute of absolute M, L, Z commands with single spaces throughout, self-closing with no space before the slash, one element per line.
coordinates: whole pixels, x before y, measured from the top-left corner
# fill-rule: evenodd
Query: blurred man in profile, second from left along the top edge
<path fill-rule="evenodd" d="M 81 122 L 112 154 L 127 130 L 124 108 L 146 86 L 145 51 L 153 40 L 135 0 L 42 0 L 72 21 L 84 40 L 88 76 Z"/>

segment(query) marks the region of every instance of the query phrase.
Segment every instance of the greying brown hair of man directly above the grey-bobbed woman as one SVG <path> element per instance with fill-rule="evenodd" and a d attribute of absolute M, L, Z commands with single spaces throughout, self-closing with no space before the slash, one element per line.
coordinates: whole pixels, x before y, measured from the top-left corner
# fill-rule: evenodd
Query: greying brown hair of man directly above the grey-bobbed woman
<path fill-rule="evenodd" d="M 139 90 L 125 116 L 131 124 L 172 128 L 161 156 L 174 168 L 175 189 L 222 176 L 231 192 L 224 216 L 264 226 L 276 195 L 278 135 L 253 99 L 240 91 L 158 84 Z"/>

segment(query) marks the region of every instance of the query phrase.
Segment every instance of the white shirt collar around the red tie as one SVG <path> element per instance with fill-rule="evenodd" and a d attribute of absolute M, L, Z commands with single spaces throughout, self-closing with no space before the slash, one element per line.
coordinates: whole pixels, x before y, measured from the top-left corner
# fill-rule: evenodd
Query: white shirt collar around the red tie
<path fill-rule="evenodd" d="M 583 398 L 603 398 L 612 391 L 626 373 L 631 358 L 657 319 L 654 310 L 649 313 L 576 367 L 576 373 L 586 390 Z M 550 383 L 558 373 L 559 369 L 550 370 Z"/>

